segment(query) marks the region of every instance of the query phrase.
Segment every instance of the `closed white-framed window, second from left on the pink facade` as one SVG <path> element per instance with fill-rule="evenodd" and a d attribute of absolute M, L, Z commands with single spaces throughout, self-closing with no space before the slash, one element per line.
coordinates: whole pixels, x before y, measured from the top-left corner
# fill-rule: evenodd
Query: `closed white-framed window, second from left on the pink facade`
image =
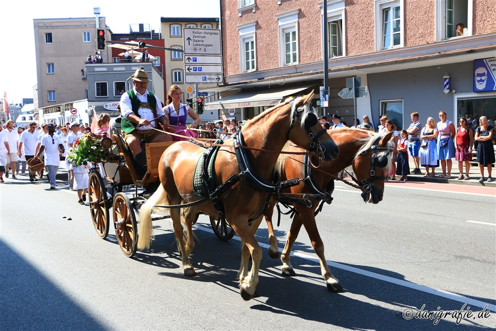
<path fill-rule="evenodd" d="M 298 64 L 299 9 L 276 15 L 279 21 L 279 63 L 281 66 Z"/>

